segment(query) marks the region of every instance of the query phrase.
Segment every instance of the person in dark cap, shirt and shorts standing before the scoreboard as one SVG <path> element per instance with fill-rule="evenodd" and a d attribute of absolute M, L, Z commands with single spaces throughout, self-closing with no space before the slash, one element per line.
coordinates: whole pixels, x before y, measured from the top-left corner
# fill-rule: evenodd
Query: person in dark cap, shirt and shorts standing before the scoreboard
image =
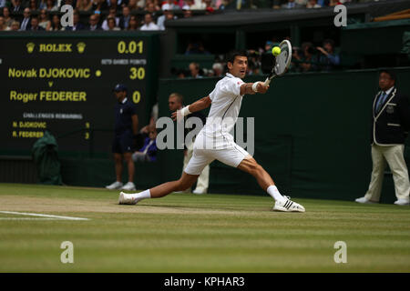
<path fill-rule="evenodd" d="M 138 115 L 134 104 L 127 98 L 126 85 L 118 84 L 113 91 L 118 101 L 115 105 L 116 124 L 112 143 L 117 180 L 106 188 L 135 190 L 132 153 L 134 152 L 134 137 L 138 134 Z M 128 183 L 126 185 L 122 183 L 123 161 L 128 166 Z"/>

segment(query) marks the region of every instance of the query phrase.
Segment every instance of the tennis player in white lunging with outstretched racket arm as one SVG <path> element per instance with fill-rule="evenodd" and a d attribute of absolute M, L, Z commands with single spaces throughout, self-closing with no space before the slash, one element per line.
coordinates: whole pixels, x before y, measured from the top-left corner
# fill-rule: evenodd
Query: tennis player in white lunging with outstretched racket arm
<path fill-rule="evenodd" d="M 210 95 L 172 113 L 174 120 L 200 111 L 210 106 L 207 123 L 200 130 L 194 144 L 193 156 L 177 181 L 171 181 L 151 189 L 135 193 L 119 193 L 119 204 L 137 204 L 145 198 L 159 198 L 175 191 L 190 188 L 203 168 L 213 160 L 239 168 L 254 176 L 263 190 L 275 200 L 273 210 L 283 212 L 304 212 L 304 207 L 282 196 L 274 185 L 272 177 L 259 165 L 247 151 L 235 144 L 231 129 L 236 123 L 243 95 L 264 94 L 269 85 L 263 82 L 244 83 L 241 78 L 246 75 L 248 57 L 246 52 L 234 51 L 227 57 L 229 73 L 221 79 Z"/>

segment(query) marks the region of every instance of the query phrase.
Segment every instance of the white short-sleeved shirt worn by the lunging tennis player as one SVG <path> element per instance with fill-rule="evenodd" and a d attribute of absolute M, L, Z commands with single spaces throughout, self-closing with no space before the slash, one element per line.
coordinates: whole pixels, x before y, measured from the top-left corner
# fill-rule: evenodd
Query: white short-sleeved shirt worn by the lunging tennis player
<path fill-rule="evenodd" d="M 241 78 L 231 74 L 221 79 L 215 89 L 210 93 L 210 114 L 201 133 L 206 139 L 207 148 L 227 148 L 233 142 L 230 132 L 238 119 L 241 109 L 242 97 Z M 230 147 L 230 146 L 229 146 Z"/>

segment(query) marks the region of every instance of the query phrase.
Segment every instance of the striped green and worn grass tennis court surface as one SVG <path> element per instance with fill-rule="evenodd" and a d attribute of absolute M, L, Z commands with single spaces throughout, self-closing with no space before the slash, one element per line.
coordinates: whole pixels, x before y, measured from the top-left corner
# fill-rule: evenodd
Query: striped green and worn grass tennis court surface
<path fill-rule="evenodd" d="M 410 272 L 410 207 L 294 200 L 306 213 L 272 212 L 270 196 L 119 206 L 118 191 L 0 184 L 0 272 Z M 63 241 L 74 264 L 60 262 Z"/>

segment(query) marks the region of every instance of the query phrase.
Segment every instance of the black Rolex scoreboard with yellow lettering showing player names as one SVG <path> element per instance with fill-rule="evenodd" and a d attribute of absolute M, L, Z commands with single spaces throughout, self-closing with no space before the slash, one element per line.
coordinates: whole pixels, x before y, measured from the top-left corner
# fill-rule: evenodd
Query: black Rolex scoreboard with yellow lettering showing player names
<path fill-rule="evenodd" d="M 0 152 L 29 151 L 46 130 L 61 151 L 109 151 L 115 85 L 127 85 L 140 125 L 149 118 L 158 37 L 0 35 Z"/>

